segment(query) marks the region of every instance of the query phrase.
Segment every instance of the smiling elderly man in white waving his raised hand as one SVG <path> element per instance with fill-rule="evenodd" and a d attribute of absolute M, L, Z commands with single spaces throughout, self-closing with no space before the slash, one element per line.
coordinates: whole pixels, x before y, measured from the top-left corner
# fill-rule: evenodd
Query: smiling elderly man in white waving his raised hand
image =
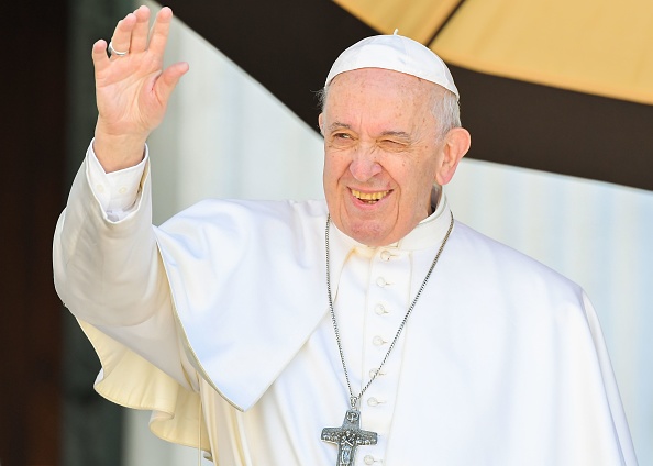
<path fill-rule="evenodd" d="M 635 465 L 583 290 L 454 221 L 469 147 L 442 60 L 398 35 L 334 63 L 324 201 L 151 224 L 145 141 L 186 64 L 171 12 L 93 45 L 99 118 L 54 242 L 108 399 L 221 465 Z"/>

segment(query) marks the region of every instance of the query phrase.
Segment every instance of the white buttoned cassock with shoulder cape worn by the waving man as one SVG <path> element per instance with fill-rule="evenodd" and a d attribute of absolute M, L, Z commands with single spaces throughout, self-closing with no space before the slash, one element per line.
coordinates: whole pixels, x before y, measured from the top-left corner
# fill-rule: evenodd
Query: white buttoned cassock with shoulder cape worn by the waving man
<path fill-rule="evenodd" d="M 109 185 L 129 175 L 97 170 L 89 153 L 54 242 L 57 291 L 102 363 L 97 390 L 152 410 L 157 435 L 201 443 L 220 465 L 335 465 L 320 434 L 342 424 L 350 396 L 326 299 L 325 202 L 210 200 L 153 228 L 148 171 L 122 188 Z M 115 220 L 102 192 L 137 189 Z M 354 395 L 451 219 L 442 196 L 376 248 L 331 226 Z M 637 465 L 584 291 L 458 222 L 361 419 L 378 443 L 359 446 L 355 465 Z"/>

